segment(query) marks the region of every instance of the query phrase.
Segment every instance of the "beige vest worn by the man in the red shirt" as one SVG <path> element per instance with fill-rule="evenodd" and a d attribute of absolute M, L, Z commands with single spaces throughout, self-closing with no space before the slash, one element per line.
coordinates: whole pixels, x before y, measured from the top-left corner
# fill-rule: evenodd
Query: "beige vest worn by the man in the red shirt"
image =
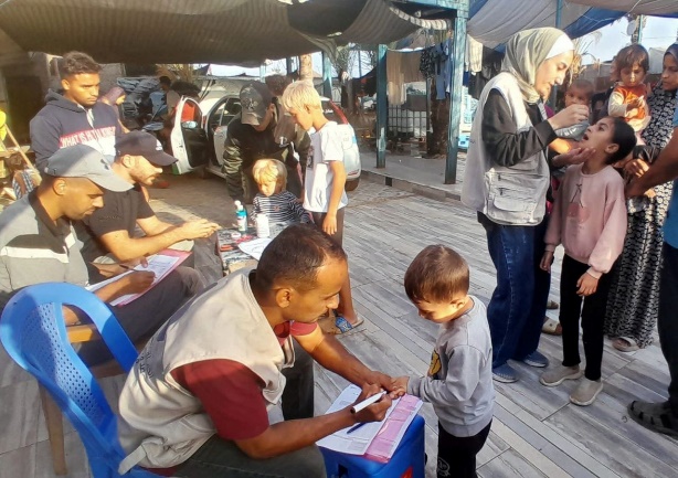
<path fill-rule="evenodd" d="M 233 360 L 262 379 L 269 406 L 280 399 L 280 370 L 294 363 L 294 349 L 289 338 L 280 347 L 252 294 L 248 275 L 250 269 L 239 270 L 180 309 L 137 359 L 119 400 L 118 436 L 128 454 L 120 474 L 135 465 L 179 465 L 216 433 L 201 402 L 172 378 L 171 371 L 181 365 Z"/>

